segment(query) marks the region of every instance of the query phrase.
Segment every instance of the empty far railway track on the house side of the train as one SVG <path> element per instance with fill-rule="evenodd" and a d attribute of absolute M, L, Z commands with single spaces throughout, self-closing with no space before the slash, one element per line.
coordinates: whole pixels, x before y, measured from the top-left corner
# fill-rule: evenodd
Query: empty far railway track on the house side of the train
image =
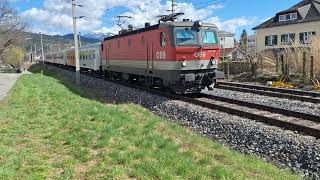
<path fill-rule="evenodd" d="M 320 93 L 300 91 L 284 88 L 273 88 L 259 85 L 242 83 L 218 82 L 215 86 L 218 89 L 225 89 L 238 92 L 253 93 L 277 98 L 286 98 L 303 102 L 320 103 Z"/>

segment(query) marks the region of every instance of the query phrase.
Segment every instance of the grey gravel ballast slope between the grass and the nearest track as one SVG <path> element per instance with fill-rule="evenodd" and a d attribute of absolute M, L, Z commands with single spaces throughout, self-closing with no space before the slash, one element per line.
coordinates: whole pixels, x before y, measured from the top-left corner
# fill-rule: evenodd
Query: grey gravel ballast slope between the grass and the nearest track
<path fill-rule="evenodd" d="M 53 66 L 47 67 L 53 72 L 74 78 L 74 72 Z M 292 131 L 179 100 L 170 100 L 102 79 L 85 75 L 81 77 L 82 85 L 97 91 L 99 98 L 115 103 L 129 102 L 142 105 L 157 115 L 176 121 L 232 149 L 255 154 L 279 167 L 303 173 L 306 178 L 320 179 L 320 141 L 314 137 L 302 136 Z M 271 100 L 264 102 L 268 101 Z M 296 104 L 296 106 L 302 108 L 303 105 Z"/>

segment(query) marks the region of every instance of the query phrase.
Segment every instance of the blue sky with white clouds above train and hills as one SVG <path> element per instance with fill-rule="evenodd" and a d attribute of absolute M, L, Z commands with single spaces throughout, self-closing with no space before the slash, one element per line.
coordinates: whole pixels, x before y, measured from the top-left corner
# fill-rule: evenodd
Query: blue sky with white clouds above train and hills
<path fill-rule="evenodd" d="M 71 32 L 68 0 L 9 0 L 30 24 L 30 31 L 48 34 Z M 233 31 L 239 37 L 242 29 L 253 33 L 251 28 L 291 7 L 299 0 L 177 0 L 179 11 L 187 11 L 186 17 L 216 23 L 221 29 Z M 117 15 L 131 15 L 136 27 L 151 21 L 157 13 L 165 13 L 169 2 L 164 0 L 79 0 L 85 7 L 78 13 L 86 18 L 79 22 L 81 32 L 116 32 Z M 68 5 L 68 6 L 67 6 Z M 210 6 L 211 5 L 211 6 Z M 110 10 L 104 11 L 109 8 Z"/>

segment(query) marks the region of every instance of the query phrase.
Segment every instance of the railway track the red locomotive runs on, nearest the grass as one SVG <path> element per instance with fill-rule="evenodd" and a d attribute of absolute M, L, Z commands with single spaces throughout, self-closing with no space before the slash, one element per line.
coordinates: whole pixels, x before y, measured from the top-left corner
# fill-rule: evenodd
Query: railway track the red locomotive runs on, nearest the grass
<path fill-rule="evenodd" d="M 177 95 L 158 89 L 150 89 L 135 84 L 128 84 L 122 81 L 110 80 L 105 76 L 101 76 L 92 72 L 83 72 L 83 74 L 129 86 L 131 88 L 147 91 L 149 93 L 164 96 L 170 99 L 181 100 L 208 109 L 218 110 L 228 114 L 281 127 L 286 130 L 297 131 L 305 135 L 311 135 L 316 138 L 320 138 L 320 116 L 317 115 L 290 111 L 287 109 L 275 108 L 272 106 L 208 94 Z"/>

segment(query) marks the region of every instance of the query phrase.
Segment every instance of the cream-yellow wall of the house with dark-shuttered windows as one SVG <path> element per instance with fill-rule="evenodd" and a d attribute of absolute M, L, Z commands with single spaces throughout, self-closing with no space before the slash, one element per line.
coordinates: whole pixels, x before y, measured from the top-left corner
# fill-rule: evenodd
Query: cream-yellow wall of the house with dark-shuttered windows
<path fill-rule="evenodd" d="M 302 32 L 316 32 L 316 36 L 320 35 L 320 21 L 300 23 L 300 24 L 291 24 L 278 27 L 270 27 L 264 29 L 256 30 L 256 50 L 261 52 L 266 49 L 271 48 L 282 48 L 284 45 L 281 45 L 281 35 L 287 33 L 295 33 L 295 42 L 299 43 L 300 33 Z M 266 46 L 265 45 L 265 36 L 278 35 L 278 43 L 275 46 Z M 288 45 L 286 45 L 287 47 Z M 308 46 L 301 44 L 301 46 Z"/>

